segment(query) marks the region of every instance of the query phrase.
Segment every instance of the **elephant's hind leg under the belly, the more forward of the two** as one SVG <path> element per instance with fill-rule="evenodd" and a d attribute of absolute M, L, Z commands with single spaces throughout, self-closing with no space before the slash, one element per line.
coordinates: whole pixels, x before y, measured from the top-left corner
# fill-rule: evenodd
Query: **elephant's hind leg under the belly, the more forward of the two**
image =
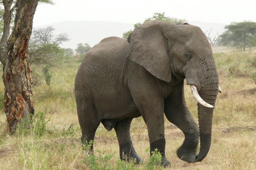
<path fill-rule="evenodd" d="M 131 159 L 133 159 L 136 161 L 136 163 L 140 163 L 142 160 L 137 155 L 131 142 L 131 121 L 132 118 L 126 118 L 124 120 L 116 122 L 116 126 L 114 127 L 119 142 L 120 159 L 125 161 L 130 161 Z"/>

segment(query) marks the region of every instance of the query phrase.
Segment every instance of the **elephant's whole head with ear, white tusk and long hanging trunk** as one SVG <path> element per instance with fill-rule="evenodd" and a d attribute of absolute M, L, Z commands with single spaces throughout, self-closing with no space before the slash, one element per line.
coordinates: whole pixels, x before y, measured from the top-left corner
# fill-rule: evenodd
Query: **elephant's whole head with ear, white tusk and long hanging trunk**
<path fill-rule="evenodd" d="M 199 102 L 201 148 L 196 161 L 202 161 L 211 144 L 212 115 L 218 94 L 218 73 L 203 31 L 187 23 L 153 20 L 135 28 L 128 42 L 128 57 L 152 75 L 166 82 L 174 77 L 186 78 L 191 85 Z"/>

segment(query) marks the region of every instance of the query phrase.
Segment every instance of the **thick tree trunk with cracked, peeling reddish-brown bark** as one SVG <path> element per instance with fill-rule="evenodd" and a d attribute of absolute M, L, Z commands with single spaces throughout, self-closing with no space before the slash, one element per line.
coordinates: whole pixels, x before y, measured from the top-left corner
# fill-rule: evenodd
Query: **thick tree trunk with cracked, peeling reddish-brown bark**
<path fill-rule="evenodd" d="M 16 125 L 29 125 L 34 114 L 32 101 L 32 69 L 27 53 L 32 32 L 32 21 L 38 0 L 17 0 L 12 33 L 6 46 L 6 63 L 3 68 L 4 111 L 7 131 L 15 132 Z"/>

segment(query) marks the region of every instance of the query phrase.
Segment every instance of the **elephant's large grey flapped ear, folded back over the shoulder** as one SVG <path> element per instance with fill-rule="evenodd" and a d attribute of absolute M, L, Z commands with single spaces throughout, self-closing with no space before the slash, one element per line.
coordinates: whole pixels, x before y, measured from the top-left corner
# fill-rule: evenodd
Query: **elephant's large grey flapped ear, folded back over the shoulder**
<path fill-rule="evenodd" d="M 171 59 L 164 33 L 166 28 L 173 26 L 163 21 L 148 21 L 135 28 L 128 37 L 128 58 L 166 82 L 171 81 Z"/>

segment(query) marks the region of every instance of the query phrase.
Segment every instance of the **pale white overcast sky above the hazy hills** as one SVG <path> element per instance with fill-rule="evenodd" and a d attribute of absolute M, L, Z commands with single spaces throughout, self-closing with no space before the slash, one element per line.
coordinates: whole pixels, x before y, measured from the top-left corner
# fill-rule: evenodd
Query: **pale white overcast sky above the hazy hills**
<path fill-rule="evenodd" d="M 34 26 L 60 21 L 138 23 L 155 12 L 188 21 L 230 24 L 256 22 L 256 0 L 53 0 L 39 4 Z"/>

